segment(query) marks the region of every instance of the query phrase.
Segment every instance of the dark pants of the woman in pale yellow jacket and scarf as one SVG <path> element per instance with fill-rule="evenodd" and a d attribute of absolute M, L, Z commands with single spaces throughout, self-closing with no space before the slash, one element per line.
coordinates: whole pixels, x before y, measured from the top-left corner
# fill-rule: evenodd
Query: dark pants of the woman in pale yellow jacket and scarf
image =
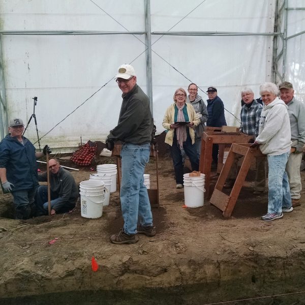
<path fill-rule="evenodd" d="M 177 142 L 176 133 L 174 133 L 173 144 L 172 144 L 172 146 L 169 146 L 169 148 L 170 148 L 171 157 L 173 159 L 176 183 L 183 184 L 182 155 L 181 155 L 180 146 L 178 145 L 178 142 Z M 189 132 L 187 132 L 186 142 L 183 143 L 183 149 L 184 149 L 185 153 L 187 154 L 187 156 L 189 156 L 189 158 L 190 158 L 192 170 L 198 171 L 199 159 L 198 159 L 198 155 L 197 155 L 197 150 L 196 150 L 195 145 L 192 144 L 192 139 L 191 139 Z"/>

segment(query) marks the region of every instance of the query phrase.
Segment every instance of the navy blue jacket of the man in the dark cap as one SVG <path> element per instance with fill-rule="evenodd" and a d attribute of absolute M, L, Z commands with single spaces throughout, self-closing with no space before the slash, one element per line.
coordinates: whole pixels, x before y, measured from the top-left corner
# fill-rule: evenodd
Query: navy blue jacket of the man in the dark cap
<path fill-rule="evenodd" d="M 221 98 L 219 96 L 216 96 L 214 100 L 206 100 L 206 101 L 207 101 L 206 110 L 208 113 L 206 126 L 212 126 L 212 127 L 227 126 L 227 122 L 225 118 L 225 107 Z"/>

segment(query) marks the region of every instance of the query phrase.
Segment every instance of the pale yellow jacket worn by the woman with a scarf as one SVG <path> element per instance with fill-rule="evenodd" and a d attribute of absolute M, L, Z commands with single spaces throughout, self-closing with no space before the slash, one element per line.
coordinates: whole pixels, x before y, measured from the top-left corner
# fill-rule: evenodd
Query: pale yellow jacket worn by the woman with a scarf
<path fill-rule="evenodd" d="M 163 123 L 162 126 L 166 129 L 166 136 L 165 136 L 165 143 L 169 144 L 172 146 L 173 144 L 173 137 L 174 137 L 174 129 L 170 128 L 171 123 L 174 123 L 174 117 L 175 117 L 175 105 L 176 103 L 171 104 L 165 112 L 164 118 L 163 118 Z M 187 112 L 189 116 L 190 122 L 194 123 L 194 127 L 198 126 L 200 124 L 200 119 L 197 118 L 196 111 L 194 107 L 186 103 L 187 106 Z M 190 131 L 190 136 L 192 139 L 192 144 L 195 143 L 195 131 L 193 128 L 189 128 Z"/>

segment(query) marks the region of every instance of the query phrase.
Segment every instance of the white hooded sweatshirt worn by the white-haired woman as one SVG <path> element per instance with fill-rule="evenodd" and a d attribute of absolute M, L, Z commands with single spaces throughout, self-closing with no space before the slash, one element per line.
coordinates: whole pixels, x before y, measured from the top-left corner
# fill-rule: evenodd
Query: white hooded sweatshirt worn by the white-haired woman
<path fill-rule="evenodd" d="M 264 105 L 260 116 L 258 137 L 261 152 L 268 156 L 288 153 L 291 147 L 288 107 L 279 98 Z"/>

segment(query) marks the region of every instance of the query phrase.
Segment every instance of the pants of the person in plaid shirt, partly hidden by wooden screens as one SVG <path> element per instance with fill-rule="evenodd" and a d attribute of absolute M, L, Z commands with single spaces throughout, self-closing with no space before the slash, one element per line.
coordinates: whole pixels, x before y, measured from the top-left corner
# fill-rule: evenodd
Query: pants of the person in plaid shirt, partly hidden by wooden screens
<path fill-rule="evenodd" d="M 228 175 L 228 179 L 236 179 L 238 160 L 241 156 L 235 155 L 234 162 Z M 263 192 L 266 183 L 265 157 L 256 158 L 255 191 Z"/>

